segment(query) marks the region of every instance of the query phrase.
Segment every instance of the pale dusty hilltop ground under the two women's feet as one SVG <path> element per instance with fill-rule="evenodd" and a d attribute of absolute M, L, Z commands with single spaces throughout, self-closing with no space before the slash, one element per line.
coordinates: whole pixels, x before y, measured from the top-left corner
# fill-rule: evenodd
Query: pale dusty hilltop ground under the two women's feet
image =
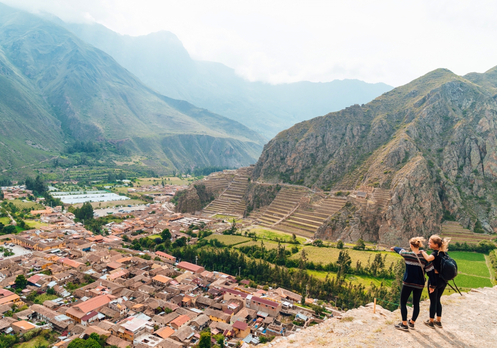
<path fill-rule="evenodd" d="M 377 306 L 349 310 L 343 319 L 329 319 L 286 338 L 277 338 L 271 348 L 321 347 L 408 347 L 466 348 L 497 346 L 497 286 L 442 296 L 443 329 L 422 324 L 428 318 L 429 300 L 421 303 L 415 330 L 403 332 L 393 324 L 401 320 L 400 310 L 394 312 Z M 412 309 L 408 308 L 409 315 Z M 409 318 L 409 316 L 408 316 Z M 278 342 L 276 342 L 278 341 Z"/>

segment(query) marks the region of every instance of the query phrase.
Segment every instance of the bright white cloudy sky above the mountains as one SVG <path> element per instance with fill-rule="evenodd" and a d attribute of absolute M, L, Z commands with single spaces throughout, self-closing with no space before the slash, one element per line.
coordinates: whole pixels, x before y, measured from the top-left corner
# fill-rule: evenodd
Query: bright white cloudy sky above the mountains
<path fill-rule="evenodd" d="M 0 1 L 121 34 L 168 30 L 192 58 L 273 84 L 399 86 L 436 68 L 464 75 L 497 65 L 495 1 Z"/>

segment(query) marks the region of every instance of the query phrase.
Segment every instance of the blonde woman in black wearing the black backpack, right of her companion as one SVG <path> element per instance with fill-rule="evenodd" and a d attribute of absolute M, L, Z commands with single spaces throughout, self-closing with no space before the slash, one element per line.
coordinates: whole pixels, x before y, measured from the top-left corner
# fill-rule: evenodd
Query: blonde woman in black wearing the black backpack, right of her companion
<path fill-rule="evenodd" d="M 433 235 L 428 240 L 428 248 L 433 250 L 433 253 L 428 255 L 424 250 L 421 251 L 424 260 L 430 261 L 435 267 L 436 287 L 433 292 L 428 295 L 430 297 L 430 319 L 423 322 L 423 324 L 434 329 L 435 326 L 442 327 L 442 304 L 440 297 L 447 286 L 447 282 L 440 277 L 440 260 L 444 257 L 449 250 L 450 238 L 441 238 L 438 235 Z M 428 285 L 430 279 L 428 279 Z M 436 314 L 436 320 L 435 319 Z"/>

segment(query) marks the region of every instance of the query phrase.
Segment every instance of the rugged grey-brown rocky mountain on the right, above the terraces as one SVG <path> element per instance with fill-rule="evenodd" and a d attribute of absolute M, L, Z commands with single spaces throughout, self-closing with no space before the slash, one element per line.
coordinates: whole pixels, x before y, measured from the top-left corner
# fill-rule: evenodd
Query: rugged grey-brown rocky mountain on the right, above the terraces
<path fill-rule="evenodd" d="M 340 219 L 322 226 L 323 235 L 346 230 L 349 239 L 392 244 L 438 232 L 444 215 L 493 232 L 496 85 L 496 69 L 465 77 L 435 70 L 368 104 L 281 132 L 264 147 L 252 180 L 390 190 L 386 207 L 358 208 L 341 227 Z"/>

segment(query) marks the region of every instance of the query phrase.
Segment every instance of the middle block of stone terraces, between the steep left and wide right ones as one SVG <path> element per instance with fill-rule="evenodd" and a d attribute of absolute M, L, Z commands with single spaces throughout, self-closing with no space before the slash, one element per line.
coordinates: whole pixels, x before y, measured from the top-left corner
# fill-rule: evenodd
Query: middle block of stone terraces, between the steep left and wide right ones
<path fill-rule="evenodd" d="M 310 191 L 306 187 L 282 186 L 274 200 L 257 220 L 260 221 L 261 226 L 272 227 L 291 214 L 301 199 L 309 193 Z"/>

